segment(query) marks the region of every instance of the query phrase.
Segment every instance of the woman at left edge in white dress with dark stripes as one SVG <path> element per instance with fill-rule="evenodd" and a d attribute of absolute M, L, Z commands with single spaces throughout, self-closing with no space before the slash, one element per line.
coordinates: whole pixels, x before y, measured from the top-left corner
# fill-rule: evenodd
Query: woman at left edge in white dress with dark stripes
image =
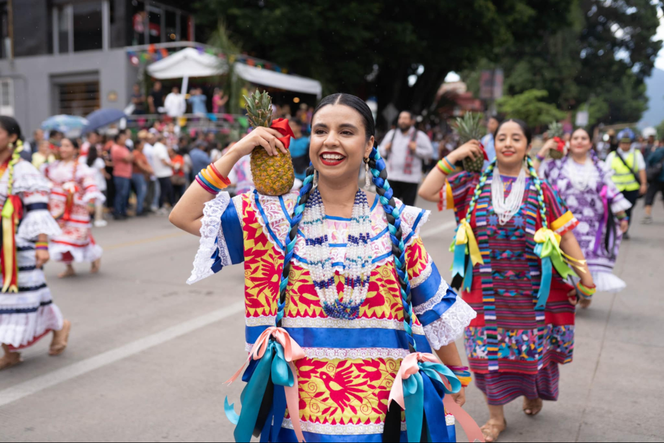
<path fill-rule="evenodd" d="M 21 363 L 17 350 L 50 331 L 48 353 L 62 353 L 70 329 L 50 297 L 42 271 L 49 258 L 48 236 L 60 233 L 48 212 L 48 181 L 29 161 L 21 160 L 19 137 L 16 120 L 0 116 L 0 343 L 4 351 L 0 369 Z"/>

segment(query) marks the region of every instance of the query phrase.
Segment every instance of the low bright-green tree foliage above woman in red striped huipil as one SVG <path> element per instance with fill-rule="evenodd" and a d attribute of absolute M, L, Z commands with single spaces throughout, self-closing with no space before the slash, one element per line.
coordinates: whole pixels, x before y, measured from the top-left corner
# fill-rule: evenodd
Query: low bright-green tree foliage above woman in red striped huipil
<path fill-rule="evenodd" d="M 531 128 L 544 126 L 564 118 L 565 113 L 554 104 L 544 102 L 548 92 L 540 89 L 529 89 L 521 94 L 505 96 L 496 102 L 499 112 L 511 118 L 519 118 Z"/>

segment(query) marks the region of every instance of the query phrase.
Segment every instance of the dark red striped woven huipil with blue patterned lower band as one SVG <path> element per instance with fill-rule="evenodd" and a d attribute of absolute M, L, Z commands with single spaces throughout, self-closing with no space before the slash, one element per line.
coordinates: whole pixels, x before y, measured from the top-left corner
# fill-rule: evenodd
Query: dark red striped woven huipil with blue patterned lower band
<path fill-rule="evenodd" d="M 450 177 L 441 191 L 440 207 L 454 209 L 457 222 L 466 215 L 479 177 L 459 173 Z M 503 177 L 506 196 L 513 180 Z M 554 272 L 546 307 L 535 310 L 540 260 L 534 252 L 533 236 L 542 226 L 537 190 L 527 178 L 519 212 L 501 226 L 493 212 L 491 182 L 489 175 L 473 214 L 468 216 L 484 264 L 473 268 L 471 291 L 462 293 L 463 300 L 477 312 L 465 331 L 465 351 L 475 373 L 535 375 L 549 363 L 572 361 L 574 306 L 567 299 L 572 286 Z M 546 181 L 542 181 L 542 191 L 548 227 L 560 235 L 573 229 L 578 221 L 556 191 Z M 490 391 L 487 395 L 491 400 Z"/>

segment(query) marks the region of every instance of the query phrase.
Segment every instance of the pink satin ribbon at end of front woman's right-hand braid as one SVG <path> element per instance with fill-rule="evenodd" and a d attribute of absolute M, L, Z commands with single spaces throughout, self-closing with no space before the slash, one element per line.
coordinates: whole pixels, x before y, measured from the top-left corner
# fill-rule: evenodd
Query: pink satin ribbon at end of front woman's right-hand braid
<path fill-rule="evenodd" d="M 401 361 L 399 371 L 396 373 L 396 377 L 394 378 L 394 385 L 392 385 L 392 389 L 390 390 L 390 397 L 387 399 L 388 409 L 390 408 L 390 403 L 392 400 L 396 401 L 402 409 L 406 409 L 406 406 L 404 405 L 404 385 L 402 380 L 408 379 L 408 377 L 420 371 L 420 367 L 418 366 L 419 361 L 440 363 L 435 355 L 427 352 L 416 352 L 406 355 L 406 357 L 404 357 L 404 359 Z M 438 375 L 440 375 L 440 379 L 443 381 L 445 387 L 450 389 L 450 382 L 448 381 L 447 377 L 441 373 L 438 373 Z M 454 399 L 452 399 L 451 395 L 446 395 L 443 397 L 443 404 L 447 412 L 450 412 L 450 414 L 454 415 L 454 418 L 459 422 L 469 442 L 477 441 L 483 443 L 485 441 L 482 431 L 479 430 L 479 426 L 477 426 L 475 420 L 473 420 L 473 418 L 467 412 L 465 412 L 465 410 L 463 410 L 461 406 L 459 406 L 459 404 L 454 401 Z"/>

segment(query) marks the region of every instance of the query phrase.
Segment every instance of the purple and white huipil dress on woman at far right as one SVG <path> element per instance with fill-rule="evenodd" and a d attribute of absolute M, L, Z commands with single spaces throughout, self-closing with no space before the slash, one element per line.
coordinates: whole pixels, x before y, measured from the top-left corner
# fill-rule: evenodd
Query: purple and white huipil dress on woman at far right
<path fill-rule="evenodd" d="M 599 159 L 591 157 L 587 161 L 593 163 L 593 167 L 588 170 L 570 157 L 548 160 L 540 166 L 540 176 L 556 187 L 560 198 L 578 219 L 574 236 L 588 260 L 588 268 L 597 290 L 618 292 L 626 285 L 612 272 L 622 240 L 620 222 L 615 219 L 615 215 L 629 209 L 631 203 L 623 197 L 611 179 L 613 169 L 609 169 Z M 586 189 L 576 189 L 570 178 L 573 175 L 588 175 Z M 614 219 L 615 232 L 607 232 L 608 217 Z M 610 238 L 605 242 L 607 235 Z"/>

